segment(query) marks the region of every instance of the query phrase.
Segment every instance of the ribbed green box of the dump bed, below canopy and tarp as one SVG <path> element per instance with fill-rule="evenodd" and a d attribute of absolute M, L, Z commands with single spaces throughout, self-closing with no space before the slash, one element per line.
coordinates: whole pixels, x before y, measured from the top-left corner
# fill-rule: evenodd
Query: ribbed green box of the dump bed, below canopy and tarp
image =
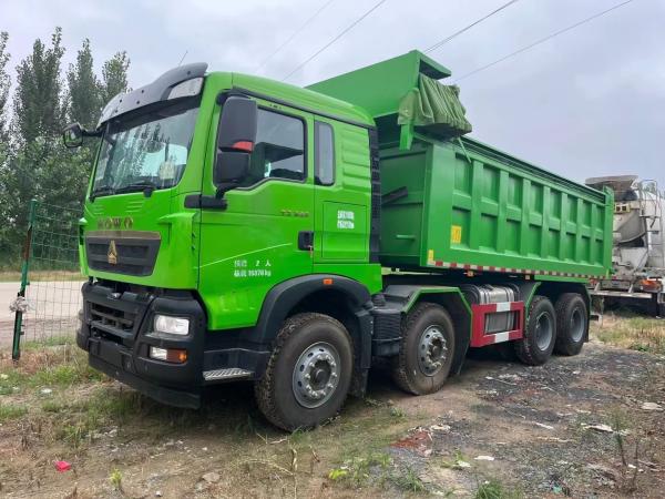
<path fill-rule="evenodd" d="M 408 196 L 383 207 L 387 264 L 411 266 L 418 253 L 418 266 L 429 268 L 606 274 L 610 195 L 468 139 L 421 142 L 382 157 L 383 193 L 412 185 Z"/>

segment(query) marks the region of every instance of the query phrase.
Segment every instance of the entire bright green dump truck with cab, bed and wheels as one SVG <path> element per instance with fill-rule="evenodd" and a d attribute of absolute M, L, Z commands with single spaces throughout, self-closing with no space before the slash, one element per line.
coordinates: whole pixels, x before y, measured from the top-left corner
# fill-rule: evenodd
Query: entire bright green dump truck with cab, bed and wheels
<path fill-rule="evenodd" d="M 362 395 L 380 357 L 419 395 L 469 348 L 577 354 L 612 193 L 466 138 L 449 75 L 417 51 L 308 89 L 196 63 L 69 125 L 69 146 L 100 138 L 79 233 L 90 365 L 192 408 L 250 380 L 294 429 Z"/>

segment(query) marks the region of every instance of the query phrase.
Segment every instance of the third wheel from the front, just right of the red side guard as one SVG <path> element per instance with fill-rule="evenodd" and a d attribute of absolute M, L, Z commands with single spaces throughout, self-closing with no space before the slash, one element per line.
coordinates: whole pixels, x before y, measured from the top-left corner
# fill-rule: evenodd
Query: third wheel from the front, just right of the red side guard
<path fill-rule="evenodd" d="M 540 366 L 552 356 L 555 342 L 556 312 L 554 306 L 545 296 L 536 295 L 529 306 L 524 337 L 514 342 L 515 355 L 524 364 Z"/>

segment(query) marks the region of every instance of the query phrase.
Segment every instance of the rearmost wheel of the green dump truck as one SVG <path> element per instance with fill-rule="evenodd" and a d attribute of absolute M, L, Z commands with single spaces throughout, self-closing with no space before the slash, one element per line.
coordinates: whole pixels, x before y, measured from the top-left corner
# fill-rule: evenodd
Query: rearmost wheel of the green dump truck
<path fill-rule="evenodd" d="M 556 301 L 556 343 L 560 355 L 577 355 L 589 334 L 589 310 L 577 293 L 564 293 Z"/>

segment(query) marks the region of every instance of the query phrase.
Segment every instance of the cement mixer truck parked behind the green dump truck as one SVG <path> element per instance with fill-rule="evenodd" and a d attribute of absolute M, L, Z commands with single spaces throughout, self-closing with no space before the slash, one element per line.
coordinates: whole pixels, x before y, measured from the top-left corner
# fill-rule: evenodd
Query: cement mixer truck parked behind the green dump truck
<path fill-rule="evenodd" d="M 665 316 L 665 195 L 657 182 L 618 175 L 587 179 L 586 185 L 614 192 L 613 274 L 593 279 L 591 295 L 601 308 L 627 306 Z"/>

